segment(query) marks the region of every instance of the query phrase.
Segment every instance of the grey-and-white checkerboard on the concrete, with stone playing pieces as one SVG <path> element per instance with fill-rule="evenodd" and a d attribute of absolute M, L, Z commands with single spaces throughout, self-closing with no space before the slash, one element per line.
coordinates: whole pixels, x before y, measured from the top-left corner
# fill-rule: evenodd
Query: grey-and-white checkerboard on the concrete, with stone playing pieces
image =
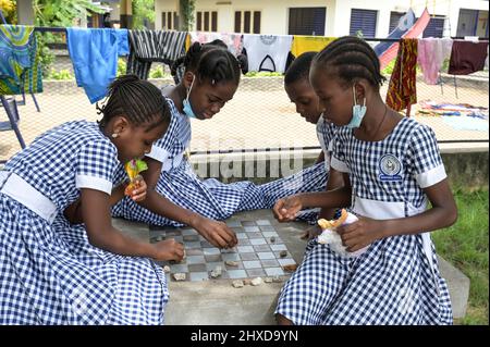
<path fill-rule="evenodd" d="M 175 238 L 184 244 L 186 258 L 182 262 L 159 262 L 161 265 L 170 267 L 168 278 L 175 281 L 172 274 L 185 273 L 185 281 L 215 280 L 211 272 L 217 268 L 222 270 L 217 280 L 282 276 L 289 274 L 283 270 L 284 265 L 296 263 L 271 221 L 230 220 L 226 221 L 226 225 L 238 238 L 238 244 L 233 249 L 218 249 L 189 227 L 151 225 L 151 243 Z"/>

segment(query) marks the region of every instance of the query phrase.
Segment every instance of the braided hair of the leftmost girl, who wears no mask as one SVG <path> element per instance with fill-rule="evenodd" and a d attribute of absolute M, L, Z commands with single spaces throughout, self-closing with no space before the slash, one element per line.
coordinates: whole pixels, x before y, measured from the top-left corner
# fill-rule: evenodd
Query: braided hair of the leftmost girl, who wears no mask
<path fill-rule="evenodd" d="M 99 126 L 103 128 L 117 115 L 124 115 L 133 125 L 149 123 L 147 132 L 156 126 L 170 123 L 170 108 L 160 89 L 136 75 L 122 75 L 108 88 L 106 102 L 96 106 L 102 113 Z"/>

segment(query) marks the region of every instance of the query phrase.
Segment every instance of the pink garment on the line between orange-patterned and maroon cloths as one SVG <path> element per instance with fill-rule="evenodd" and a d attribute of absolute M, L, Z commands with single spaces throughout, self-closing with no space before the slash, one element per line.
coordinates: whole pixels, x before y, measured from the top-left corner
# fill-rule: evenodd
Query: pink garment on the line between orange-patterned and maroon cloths
<path fill-rule="evenodd" d="M 417 62 L 428 85 L 438 83 L 438 73 L 445 59 L 451 57 L 453 40 L 451 38 L 421 38 L 418 40 Z"/>

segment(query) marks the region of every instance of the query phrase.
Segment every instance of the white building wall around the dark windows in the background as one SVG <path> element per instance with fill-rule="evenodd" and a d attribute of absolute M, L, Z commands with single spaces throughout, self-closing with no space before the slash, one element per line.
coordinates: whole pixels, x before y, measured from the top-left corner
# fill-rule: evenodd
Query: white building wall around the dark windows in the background
<path fill-rule="evenodd" d="M 161 28 L 161 12 L 176 11 L 176 0 L 156 0 L 155 27 Z M 456 35 L 460 9 L 489 10 L 489 1 L 483 0 L 197 0 L 196 10 L 218 11 L 218 30 L 234 32 L 234 11 L 261 11 L 261 34 L 287 34 L 289 8 L 324 7 L 327 8 L 326 36 L 348 35 L 351 9 L 376 10 L 378 21 L 377 37 L 385 37 L 389 33 L 390 13 L 406 12 L 411 7 L 415 15 L 420 16 L 425 7 L 431 15 L 448 16 L 451 36 Z"/>

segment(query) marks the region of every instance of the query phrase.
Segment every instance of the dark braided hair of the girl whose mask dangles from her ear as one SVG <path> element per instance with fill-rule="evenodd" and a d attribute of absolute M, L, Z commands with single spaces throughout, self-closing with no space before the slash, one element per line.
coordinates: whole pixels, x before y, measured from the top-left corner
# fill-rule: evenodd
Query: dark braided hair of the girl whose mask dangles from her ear
<path fill-rule="evenodd" d="M 187 53 L 172 64 L 172 75 L 176 74 L 182 64 L 186 72 L 194 72 L 199 78 L 208 79 L 211 84 L 229 80 L 236 85 L 240 83 L 240 63 L 221 40 L 205 45 L 194 42 Z"/>

